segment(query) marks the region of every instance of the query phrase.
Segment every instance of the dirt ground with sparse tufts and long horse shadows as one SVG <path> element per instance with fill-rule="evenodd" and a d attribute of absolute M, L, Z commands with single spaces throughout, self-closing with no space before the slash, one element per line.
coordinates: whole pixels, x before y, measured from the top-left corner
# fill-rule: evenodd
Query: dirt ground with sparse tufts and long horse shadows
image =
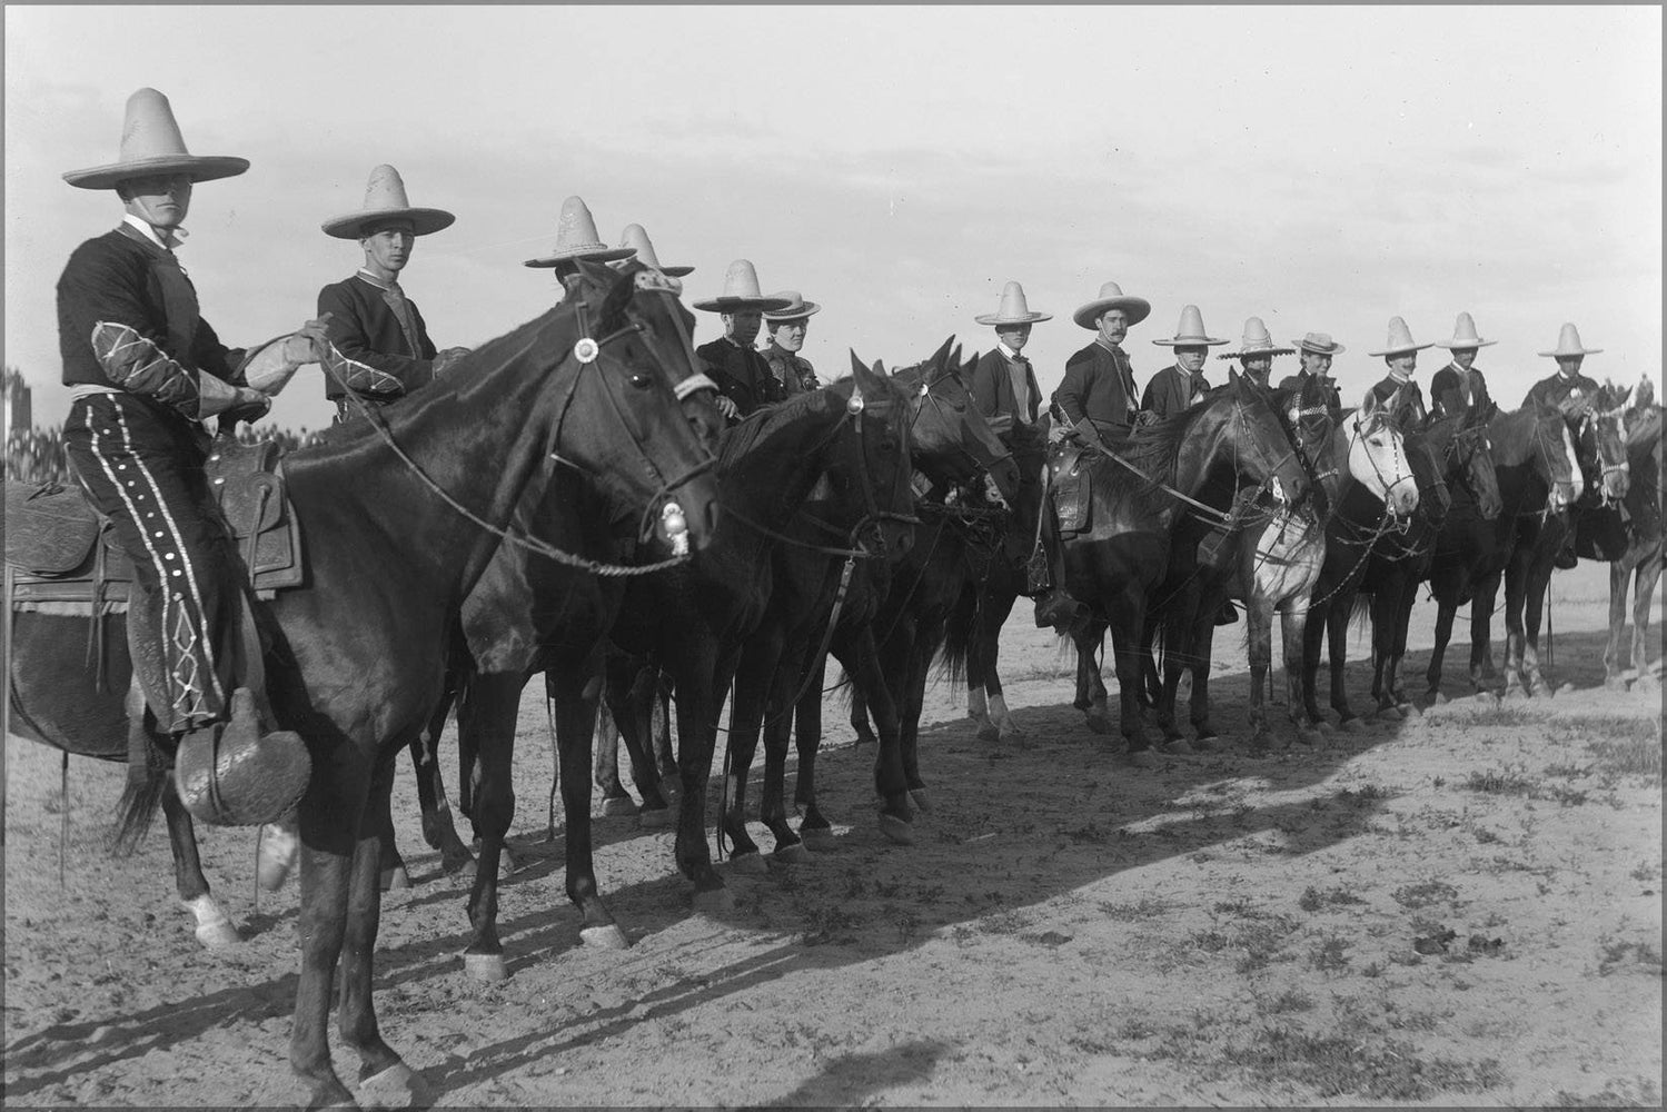
<path fill-rule="evenodd" d="M 1559 574 L 1554 600 L 1555 699 L 1455 699 L 1267 757 L 1244 745 L 1242 625 L 1222 630 L 1227 744 L 1155 770 L 1089 734 L 1072 660 L 1020 607 L 1004 654 L 1029 745 L 977 740 L 937 687 L 915 847 L 877 832 L 872 750 L 837 724 L 837 847 L 733 877 L 732 914 L 690 912 L 668 834 L 598 820 L 618 952 L 578 944 L 560 842 L 542 840 L 528 689 L 510 979 L 465 977 L 465 889 L 402 774 L 417 887 L 383 902 L 383 1034 L 452 1107 L 1660 1104 L 1662 702 L 1602 687 L 1605 567 Z M 1420 604 L 1412 690 L 1432 622 Z M 1352 639 L 1357 710 L 1367 654 Z M 202 832 L 248 935 L 210 954 L 160 825 L 132 859 L 103 854 L 122 769 L 72 760 L 65 810 L 55 752 L 5 755 L 7 1105 L 300 1097 L 297 894 L 257 912 L 253 832 Z M 345 1080 L 357 1067 L 338 1055 Z"/>

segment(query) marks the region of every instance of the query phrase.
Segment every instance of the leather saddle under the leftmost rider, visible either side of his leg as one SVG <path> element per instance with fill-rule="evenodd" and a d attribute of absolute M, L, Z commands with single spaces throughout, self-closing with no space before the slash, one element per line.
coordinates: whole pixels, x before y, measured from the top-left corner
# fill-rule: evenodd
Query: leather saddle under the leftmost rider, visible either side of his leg
<path fill-rule="evenodd" d="M 300 528 L 283 485 L 283 450 L 273 442 L 217 440 L 205 462 L 210 490 L 255 592 L 270 599 L 305 577 Z M 122 610 L 133 565 L 108 518 L 80 488 L 5 483 L 5 562 L 13 609 L 58 604 L 70 612 Z"/>

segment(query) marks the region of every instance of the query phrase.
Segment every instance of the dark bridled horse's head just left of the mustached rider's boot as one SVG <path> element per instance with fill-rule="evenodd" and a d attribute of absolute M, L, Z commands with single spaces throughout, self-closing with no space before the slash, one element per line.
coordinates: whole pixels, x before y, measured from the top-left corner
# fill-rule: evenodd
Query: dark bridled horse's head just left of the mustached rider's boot
<path fill-rule="evenodd" d="M 972 405 L 960 380 L 960 350 L 954 337 L 932 358 L 892 372 L 910 393 L 909 447 L 914 465 L 944 483 L 970 483 L 989 475 L 1010 505 L 1019 493 L 1019 465 L 1012 452 Z"/>

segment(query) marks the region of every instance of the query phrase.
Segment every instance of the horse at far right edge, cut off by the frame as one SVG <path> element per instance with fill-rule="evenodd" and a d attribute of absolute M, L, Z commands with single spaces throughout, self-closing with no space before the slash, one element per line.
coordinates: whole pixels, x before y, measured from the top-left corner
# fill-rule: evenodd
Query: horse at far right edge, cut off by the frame
<path fill-rule="evenodd" d="M 1649 382 L 1649 380 L 1645 380 Z M 1644 393 L 1640 388 L 1639 393 Z M 1650 602 L 1662 574 L 1662 407 L 1635 398 L 1627 415 L 1627 463 L 1630 483 L 1625 507 L 1625 543 L 1609 564 L 1609 642 L 1604 645 L 1604 685 L 1627 685 L 1622 634 L 1627 627 L 1627 580 L 1637 580 L 1632 599 L 1632 690 L 1659 692 L 1660 680 L 1649 670 Z"/>

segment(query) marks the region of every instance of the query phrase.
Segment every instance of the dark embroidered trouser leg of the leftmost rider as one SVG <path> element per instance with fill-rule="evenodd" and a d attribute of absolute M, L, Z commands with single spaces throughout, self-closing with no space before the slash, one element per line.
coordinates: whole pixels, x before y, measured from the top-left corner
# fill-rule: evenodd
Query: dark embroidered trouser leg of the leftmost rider
<path fill-rule="evenodd" d="M 185 418 L 130 393 L 77 398 L 63 425 L 77 477 L 115 523 L 135 585 L 160 617 L 150 632 L 167 690 L 147 697 L 170 734 L 227 717 L 238 650 L 242 577 L 203 475 L 200 437 Z"/>

